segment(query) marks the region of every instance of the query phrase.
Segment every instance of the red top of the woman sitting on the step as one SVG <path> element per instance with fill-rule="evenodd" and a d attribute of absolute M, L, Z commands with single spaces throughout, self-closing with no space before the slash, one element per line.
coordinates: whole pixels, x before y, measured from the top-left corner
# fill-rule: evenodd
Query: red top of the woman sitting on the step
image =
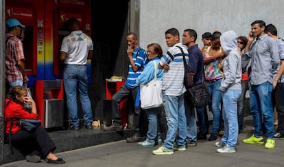
<path fill-rule="evenodd" d="M 35 113 L 29 113 L 25 111 L 25 108 L 13 100 L 8 104 L 8 101 L 6 99 L 6 107 L 5 107 L 5 133 L 9 134 L 10 131 L 10 125 L 11 125 L 11 118 L 16 119 L 32 119 L 32 120 L 38 120 L 38 115 Z M 8 105 L 7 105 L 8 104 Z M 15 134 L 17 131 L 19 131 L 22 127 L 19 124 L 16 124 L 17 120 L 14 120 L 11 133 Z"/>

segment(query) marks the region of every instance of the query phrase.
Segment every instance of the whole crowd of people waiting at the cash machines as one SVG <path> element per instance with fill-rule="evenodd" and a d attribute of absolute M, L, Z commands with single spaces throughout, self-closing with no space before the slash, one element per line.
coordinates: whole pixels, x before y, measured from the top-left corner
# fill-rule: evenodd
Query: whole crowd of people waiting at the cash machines
<path fill-rule="evenodd" d="M 7 21 L 6 34 L 6 81 L 7 100 L 5 108 L 5 141 L 10 140 L 14 146 L 21 142 L 35 142 L 25 153 L 29 162 L 64 164 L 62 158 L 54 155 L 56 146 L 43 127 L 38 127 L 32 133 L 22 129 L 19 124 L 12 122 L 16 119 L 38 119 L 36 104 L 27 96 L 27 89 L 23 83 L 28 82 L 25 74 L 25 57 L 21 28 L 25 27 L 16 19 Z M 77 19 L 69 19 L 71 34 L 64 38 L 60 49 L 60 60 L 64 62 L 64 90 L 67 95 L 67 108 L 70 117 L 70 129 L 79 131 L 77 92 L 84 113 L 84 126 L 93 129 L 93 115 L 91 102 L 88 98 L 86 61 L 93 56 L 93 43 L 84 34 Z M 20 38 L 21 36 L 21 38 Z M 163 54 L 161 45 L 151 43 L 147 51 L 138 45 L 138 36 L 134 32 L 126 35 L 128 43 L 128 78 L 119 91 L 112 97 L 113 123 L 104 126 L 104 131 L 123 131 L 119 103 L 129 98 L 134 111 L 134 129 L 132 137 L 126 142 L 137 142 L 139 146 L 154 147 L 154 155 L 169 155 L 174 151 L 186 151 L 187 146 L 197 146 L 198 140 L 206 140 L 209 133 L 207 107 L 194 108 L 185 102 L 184 85 L 185 67 L 183 56 L 193 76 L 194 85 L 205 82 L 209 87 L 211 102 L 209 111 L 213 114 L 213 124 L 209 141 L 222 137 L 215 142 L 218 153 L 235 153 L 237 135 L 244 129 L 244 113 L 246 108 L 246 91 L 250 91 L 250 112 L 254 119 L 253 135 L 243 140 L 246 144 L 265 144 L 265 148 L 272 149 L 276 143 L 274 139 L 284 138 L 284 108 L 281 98 L 284 82 L 284 42 L 277 36 L 276 27 L 265 25 L 264 21 L 251 23 L 251 31 L 246 36 L 237 36 L 233 30 L 215 31 L 212 34 L 202 34 L 204 46 L 200 49 L 196 44 L 198 34 L 193 29 L 186 29 L 182 34 L 176 28 L 165 32 L 165 41 L 169 49 Z M 155 67 L 156 64 L 156 67 Z M 167 118 L 167 134 L 161 140 L 159 130 L 158 110 L 141 109 L 139 85 L 150 82 L 156 76 L 163 80 L 163 109 Z M 77 91 L 77 87 L 79 91 Z M 272 97 L 272 90 L 275 97 Z M 276 100 L 276 110 L 279 115 L 278 129 L 274 133 L 274 114 L 272 99 Z M 32 103 L 32 113 L 23 108 L 25 102 Z M 196 113 L 198 124 L 196 124 Z M 147 115 L 148 124 L 143 120 Z M 10 126 L 12 125 L 12 133 Z M 197 129 L 199 126 L 199 131 Z M 265 127 L 266 141 L 263 129 Z M 147 133 L 146 133 L 147 131 Z M 8 135 L 11 133 L 11 135 Z M 43 140 L 43 137 L 45 140 Z"/>

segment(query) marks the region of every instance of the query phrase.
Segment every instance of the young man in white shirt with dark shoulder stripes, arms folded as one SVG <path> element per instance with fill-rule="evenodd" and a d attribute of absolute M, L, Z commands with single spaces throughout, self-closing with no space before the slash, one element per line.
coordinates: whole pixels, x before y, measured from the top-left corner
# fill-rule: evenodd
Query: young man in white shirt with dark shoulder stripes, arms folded
<path fill-rule="evenodd" d="M 187 137 L 187 118 L 185 117 L 185 105 L 183 95 L 186 91 L 184 85 L 185 66 L 183 64 L 182 51 L 188 62 L 189 54 L 185 45 L 180 43 L 180 36 L 176 28 L 165 32 L 167 53 L 161 58 L 158 65 L 163 69 L 163 101 L 167 115 L 167 136 L 163 146 L 154 150 L 155 155 L 173 154 L 174 149 L 186 151 L 185 138 Z M 168 70 L 167 70 L 168 69 Z M 176 134 L 178 134 L 176 138 Z M 174 144 L 176 142 L 176 144 Z"/>

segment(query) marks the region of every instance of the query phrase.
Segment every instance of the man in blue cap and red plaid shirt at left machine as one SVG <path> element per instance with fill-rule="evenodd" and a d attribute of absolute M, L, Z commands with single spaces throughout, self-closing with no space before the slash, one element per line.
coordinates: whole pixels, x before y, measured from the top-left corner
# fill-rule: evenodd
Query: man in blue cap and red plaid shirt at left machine
<path fill-rule="evenodd" d="M 11 18 L 6 22 L 6 26 L 8 30 L 5 35 L 5 79 L 7 93 L 16 85 L 23 86 L 23 83 L 27 83 L 29 78 L 25 74 L 25 56 L 21 41 L 23 40 L 21 28 L 24 28 L 25 25 L 22 25 L 17 19 Z"/>

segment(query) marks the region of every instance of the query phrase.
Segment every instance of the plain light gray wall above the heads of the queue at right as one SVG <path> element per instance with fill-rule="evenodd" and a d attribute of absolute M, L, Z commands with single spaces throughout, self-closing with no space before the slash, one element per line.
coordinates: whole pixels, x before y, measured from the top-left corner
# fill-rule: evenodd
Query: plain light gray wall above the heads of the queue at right
<path fill-rule="evenodd" d="M 202 47 L 204 32 L 234 30 L 248 36 L 250 23 L 263 20 L 273 23 L 284 38 L 283 0 L 143 0 L 139 1 L 139 43 L 145 49 L 150 43 L 159 43 L 166 52 L 165 31 L 176 27 L 180 31 L 193 28 L 198 33 L 197 43 Z M 181 41 L 180 41 L 181 42 Z"/>

